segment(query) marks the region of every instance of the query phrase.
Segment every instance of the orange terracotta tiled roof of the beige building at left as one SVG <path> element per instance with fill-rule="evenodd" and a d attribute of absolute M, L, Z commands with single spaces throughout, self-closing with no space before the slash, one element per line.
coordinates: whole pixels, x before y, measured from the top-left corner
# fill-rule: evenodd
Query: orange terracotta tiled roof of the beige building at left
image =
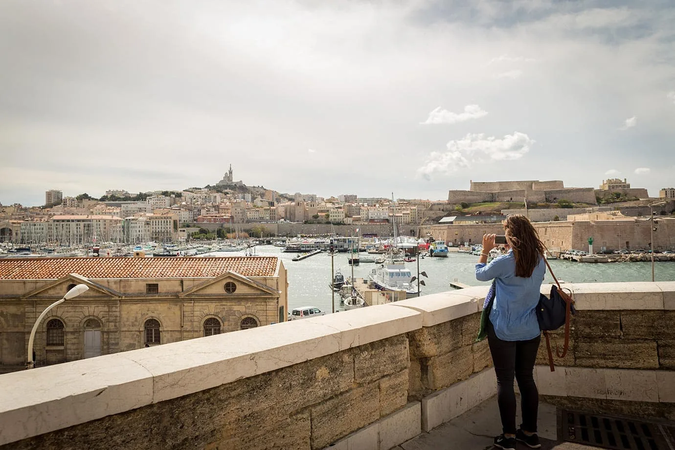
<path fill-rule="evenodd" d="M 275 256 L 225 256 L 221 258 L 40 258 L 0 259 L 0 279 L 59 279 L 77 273 L 91 279 L 216 277 L 227 271 L 244 277 L 271 277 Z"/>

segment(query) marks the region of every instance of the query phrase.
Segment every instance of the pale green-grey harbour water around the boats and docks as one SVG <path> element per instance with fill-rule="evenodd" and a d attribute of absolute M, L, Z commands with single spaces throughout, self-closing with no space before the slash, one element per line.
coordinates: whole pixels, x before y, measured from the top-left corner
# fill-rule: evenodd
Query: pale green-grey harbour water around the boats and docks
<path fill-rule="evenodd" d="M 257 246 L 257 256 L 278 256 L 288 270 L 288 308 L 316 306 L 331 312 L 331 255 L 322 252 L 301 261 L 293 261 L 297 253 L 281 252 L 275 246 Z M 215 252 L 209 256 L 243 256 L 244 252 Z M 204 255 L 207 256 L 207 255 Z M 346 253 L 335 253 L 335 271 L 340 270 L 345 279 L 351 276 L 352 268 L 347 263 Z M 375 255 L 377 256 L 377 255 Z M 450 283 L 458 281 L 466 285 L 486 285 L 474 276 L 477 256 L 466 253 L 450 252 L 448 258 L 423 258 L 415 262 L 406 262 L 412 275 L 417 275 L 417 262 L 420 272 L 429 277 L 421 277 L 426 286 L 421 286 L 422 295 L 453 290 Z M 567 260 L 549 260 L 553 272 L 560 281 L 568 283 L 605 283 L 612 281 L 651 281 L 651 262 L 610 262 L 592 264 Z M 354 266 L 354 277 L 367 278 L 375 269 L 373 262 L 362 262 Z M 656 281 L 675 281 L 675 262 L 655 262 Z M 544 283 L 553 282 L 546 271 Z M 335 294 L 335 310 L 341 310 L 340 296 Z"/>

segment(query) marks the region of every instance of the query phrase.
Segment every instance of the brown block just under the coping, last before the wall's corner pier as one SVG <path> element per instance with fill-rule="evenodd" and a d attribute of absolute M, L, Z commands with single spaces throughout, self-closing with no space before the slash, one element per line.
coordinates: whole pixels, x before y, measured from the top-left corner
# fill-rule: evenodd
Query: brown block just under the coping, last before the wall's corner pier
<path fill-rule="evenodd" d="M 408 338 L 398 335 L 354 349 L 354 381 L 370 383 L 408 368 Z"/>

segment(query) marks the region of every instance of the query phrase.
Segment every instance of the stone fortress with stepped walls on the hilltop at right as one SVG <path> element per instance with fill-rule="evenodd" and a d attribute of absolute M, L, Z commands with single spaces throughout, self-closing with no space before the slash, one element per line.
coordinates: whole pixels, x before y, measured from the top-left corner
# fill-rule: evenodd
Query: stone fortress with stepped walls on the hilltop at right
<path fill-rule="evenodd" d="M 538 181 L 471 181 L 466 190 L 448 192 L 448 203 L 527 202 L 556 203 L 569 200 L 573 203 L 597 204 L 593 188 L 565 188 L 560 180 Z"/>

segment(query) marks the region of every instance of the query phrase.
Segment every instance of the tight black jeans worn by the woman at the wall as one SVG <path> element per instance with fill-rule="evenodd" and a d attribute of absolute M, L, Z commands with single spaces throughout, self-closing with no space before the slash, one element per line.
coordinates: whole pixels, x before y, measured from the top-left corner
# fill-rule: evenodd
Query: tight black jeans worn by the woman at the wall
<path fill-rule="evenodd" d="M 502 432 L 516 433 L 516 393 L 513 389 L 514 375 L 520 389 L 520 428 L 537 432 L 539 391 L 533 371 L 541 336 L 529 341 L 502 341 L 495 335 L 491 322 L 487 321 L 487 343 L 497 374 L 497 403 L 502 417 Z"/>

